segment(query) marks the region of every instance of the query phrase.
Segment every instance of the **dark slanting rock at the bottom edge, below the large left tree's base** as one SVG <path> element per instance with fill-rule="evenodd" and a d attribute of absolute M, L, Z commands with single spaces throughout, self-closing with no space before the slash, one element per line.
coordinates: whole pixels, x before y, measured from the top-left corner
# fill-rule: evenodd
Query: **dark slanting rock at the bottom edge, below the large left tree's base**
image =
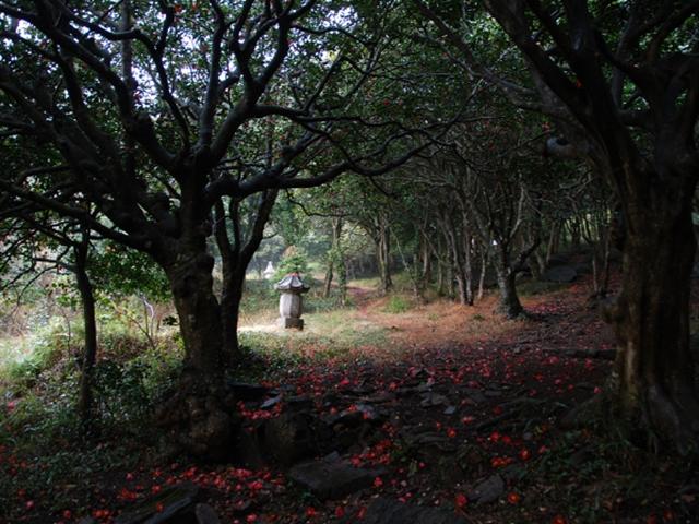
<path fill-rule="evenodd" d="M 199 488 L 180 484 L 133 505 L 115 524 L 193 524 L 193 508 Z"/>

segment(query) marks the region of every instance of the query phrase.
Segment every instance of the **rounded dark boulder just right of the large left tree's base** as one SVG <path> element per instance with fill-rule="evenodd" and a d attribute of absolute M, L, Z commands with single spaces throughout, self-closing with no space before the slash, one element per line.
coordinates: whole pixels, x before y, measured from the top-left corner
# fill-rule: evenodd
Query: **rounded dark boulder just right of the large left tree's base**
<path fill-rule="evenodd" d="M 282 413 L 264 426 L 264 449 L 282 464 L 291 465 L 315 454 L 317 445 L 306 413 Z"/>

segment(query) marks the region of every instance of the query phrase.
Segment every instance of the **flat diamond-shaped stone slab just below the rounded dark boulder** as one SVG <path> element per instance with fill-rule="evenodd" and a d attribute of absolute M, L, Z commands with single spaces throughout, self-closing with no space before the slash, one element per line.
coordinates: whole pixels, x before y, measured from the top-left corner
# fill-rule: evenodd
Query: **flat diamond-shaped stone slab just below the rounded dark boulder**
<path fill-rule="evenodd" d="M 292 480 L 322 500 L 337 499 L 368 488 L 376 477 L 384 474 L 384 469 L 354 467 L 332 455 L 320 461 L 297 464 L 288 472 Z"/>

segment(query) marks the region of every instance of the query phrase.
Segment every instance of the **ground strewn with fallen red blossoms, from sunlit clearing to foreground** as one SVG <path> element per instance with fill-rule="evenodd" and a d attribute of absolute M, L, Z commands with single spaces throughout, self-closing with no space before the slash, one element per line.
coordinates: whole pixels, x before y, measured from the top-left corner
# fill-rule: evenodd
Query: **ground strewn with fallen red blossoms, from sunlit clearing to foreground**
<path fill-rule="evenodd" d="M 259 366 L 245 379 L 268 389 L 239 409 L 254 432 L 308 401 L 313 416 L 336 430 L 318 450 L 336 444 L 340 458 L 375 471 L 368 486 L 318 497 L 291 480 L 288 466 L 163 462 L 138 440 L 105 436 L 93 448 L 102 467 L 73 464 L 85 468 L 82 484 L 63 486 L 58 475 L 50 501 L 40 486 L 17 485 L 0 523 L 67 524 L 87 511 L 114 522 L 181 481 L 198 485 L 225 524 L 379 522 L 371 514 L 379 498 L 441 509 L 454 523 L 699 522 L 694 460 L 630 442 L 614 420 L 561 425 L 573 406 L 603 394 L 612 366 L 613 334 L 588 306 L 585 281 L 525 296 L 522 320 L 500 318 L 493 296 L 469 308 L 443 300 L 404 307 L 364 287 L 351 294 L 355 307 L 330 313 L 332 322 L 313 326 L 317 317 L 306 315 L 305 334 L 283 335 L 277 352 L 304 358 L 277 366 L 277 354 L 256 357 Z M 372 335 L 332 350 L 333 337 L 320 336 L 332 332 L 330 323 L 335 333 Z M 275 336 L 263 320 L 249 324 Z M 67 452 L 71 445 L 56 443 Z M 132 466 L 99 458 L 115 446 L 127 450 Z M 39 462 L 0 446 L 0 476 L 32 464 Z"/>

